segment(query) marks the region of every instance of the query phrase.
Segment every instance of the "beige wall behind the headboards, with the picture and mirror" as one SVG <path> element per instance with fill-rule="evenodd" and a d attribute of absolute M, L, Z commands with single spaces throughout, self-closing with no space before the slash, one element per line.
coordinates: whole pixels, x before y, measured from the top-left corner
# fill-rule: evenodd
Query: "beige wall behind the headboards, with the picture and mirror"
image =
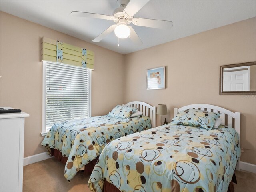
<path fill-rule="evenodd" d="M 219 95 L 219 66 L 256 61 L 256 18 L 154 46 L 125 56 L 125 102 L 174 107 L 206 103 L 241 112 L 241 160 L 256 164 L 255 95 Z M 146 69 L 166 66 L 166 89 L 146 90 Z M 160 118 L 158 116 L 158 125 Z"/>

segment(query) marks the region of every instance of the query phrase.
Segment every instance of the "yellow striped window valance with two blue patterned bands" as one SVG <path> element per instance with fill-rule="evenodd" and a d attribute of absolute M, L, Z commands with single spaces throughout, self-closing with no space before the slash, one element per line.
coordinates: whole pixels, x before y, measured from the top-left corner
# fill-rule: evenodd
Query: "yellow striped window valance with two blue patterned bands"
<path fill-rule="evenodd" d="M 94 69 L 94 52 L 46 37 L 41 40 L 41 60 Z"/>

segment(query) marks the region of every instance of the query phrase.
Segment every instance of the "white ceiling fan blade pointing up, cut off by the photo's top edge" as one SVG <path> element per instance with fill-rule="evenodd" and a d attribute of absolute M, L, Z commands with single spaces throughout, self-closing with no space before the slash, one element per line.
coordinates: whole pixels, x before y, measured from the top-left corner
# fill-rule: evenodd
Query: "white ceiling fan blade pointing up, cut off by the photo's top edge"
<path fill-rule="evenodd" d="M 128 17 L 134 16 L 149 0 L 130 0 L 124 8 L 124 14 Z"/>

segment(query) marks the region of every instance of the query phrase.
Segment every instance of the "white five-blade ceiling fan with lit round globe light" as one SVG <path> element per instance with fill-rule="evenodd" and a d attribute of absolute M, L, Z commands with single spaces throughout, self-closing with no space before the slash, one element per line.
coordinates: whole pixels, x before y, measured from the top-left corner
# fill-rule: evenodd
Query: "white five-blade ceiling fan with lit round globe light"
<path fill-rule="evenodd" d="M 171 21 L 133 17 L 147 2 L 149 2 L 149 0 L 118 0 L 117 2 L 120 7 L 114 10 L 113 16 L 80 11 L 72 11 L 70 14 L 73 16 L 113 20 L 116 23 L 98 35 L 92 40 L 93 42 L 100 42 L 108 34 L 114 31 L 118 38 L 123 39 L 130 37 L 134 44 L 141 45 L 142 41 L 132 26 L 128 24 L 132 23 L 138 26 L 160 29 L 170 29 L 172 27 Z"/>

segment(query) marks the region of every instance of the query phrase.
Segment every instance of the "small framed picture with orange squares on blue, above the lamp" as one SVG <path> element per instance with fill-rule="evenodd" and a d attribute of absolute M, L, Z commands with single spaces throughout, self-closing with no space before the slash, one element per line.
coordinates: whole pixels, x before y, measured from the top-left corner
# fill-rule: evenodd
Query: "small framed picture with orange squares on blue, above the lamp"
<path fill-rule="evenodd" d="M 147 89 L 165 89 L 165 67 L 147 70 Z"/>

